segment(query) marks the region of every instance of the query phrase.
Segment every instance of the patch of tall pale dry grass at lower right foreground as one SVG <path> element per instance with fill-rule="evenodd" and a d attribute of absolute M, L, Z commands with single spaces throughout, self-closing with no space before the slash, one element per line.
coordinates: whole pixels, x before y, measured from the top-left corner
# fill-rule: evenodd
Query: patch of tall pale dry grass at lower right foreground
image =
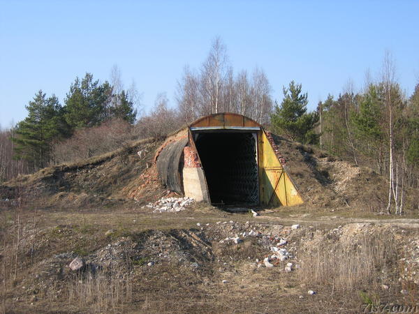
<path fill-rule="evenodd" d="M 332 285 L 362 290 L 394 281 L 397 248 L 394 237 L 362 236 L 356 243 L 321 242 L 300 253 L 300 280 L 307 285 Z"/>

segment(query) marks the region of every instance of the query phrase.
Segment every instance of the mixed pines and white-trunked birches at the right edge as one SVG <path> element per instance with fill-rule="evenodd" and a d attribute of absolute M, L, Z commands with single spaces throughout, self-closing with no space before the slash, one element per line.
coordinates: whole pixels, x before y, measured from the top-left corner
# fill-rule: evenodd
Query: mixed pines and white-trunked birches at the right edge
<path fill-rule="evenodd" d="M 419 188 L 419 84 L 406 95 L 386 54 L 381 77 L 318 103 L 318 145 L 388 177 L 387 211 L 401 214 L 406 188 Z"/>

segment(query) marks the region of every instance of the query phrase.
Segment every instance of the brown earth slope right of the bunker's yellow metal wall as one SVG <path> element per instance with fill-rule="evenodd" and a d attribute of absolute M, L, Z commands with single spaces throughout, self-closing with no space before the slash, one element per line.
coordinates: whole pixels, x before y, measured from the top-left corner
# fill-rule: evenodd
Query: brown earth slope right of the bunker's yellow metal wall
<path fill-rule="evenodd" d="M 306 204 L 331 209 L 384 212 L 388 182 L 369 167 L 353 165 L 325 151 L 273 135 L 286 170 L 300 190 Z M 406 212 L 418 209 L 417 190 L 408 189 Z"/>

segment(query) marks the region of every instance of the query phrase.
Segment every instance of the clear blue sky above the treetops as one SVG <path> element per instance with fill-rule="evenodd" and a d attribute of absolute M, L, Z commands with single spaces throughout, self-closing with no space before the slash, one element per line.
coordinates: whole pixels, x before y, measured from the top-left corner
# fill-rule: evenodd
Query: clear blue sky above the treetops
<path fill-rule="evenodd" d="M 146 109 L 171 105 L 186 64 L 199 68 L 215 36 L 235 73 L 265 70 L 275 99 L 291 80 L 309 109 L 365 71 L 385 50 L 411 94 L 419 82 L 419 1 L 3 1 L 0 0 L 0 126 L 26 117 L 42 89 L 61 103 L 76 76 L 109 80 L 114 64 L 134 80 Z"/>

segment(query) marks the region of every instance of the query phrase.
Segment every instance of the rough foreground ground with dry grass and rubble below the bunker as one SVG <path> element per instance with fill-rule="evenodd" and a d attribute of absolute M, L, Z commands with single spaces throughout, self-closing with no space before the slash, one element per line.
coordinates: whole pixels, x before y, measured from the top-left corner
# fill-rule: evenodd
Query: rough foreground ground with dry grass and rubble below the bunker
<path fill-rule="evenodd" d="M 97 214 L 108 220 L 61 213 L 63 224 L 54 225 L 57 215 L 3 216 L 3 310 L 353 313 L 367 301 L 418 298 L 417 228 L 293 229 L 200 207 L 155 218 L 151 210 Z M 238 244 L 221 241 L 236 235 Z M 263 258 L 279 239 L 291 257 L 267 268 Z M 75 257 L 86 263 L 81 271 L 68 268 Z M 285 271 L 288 262 L 293 271 Z"/>

